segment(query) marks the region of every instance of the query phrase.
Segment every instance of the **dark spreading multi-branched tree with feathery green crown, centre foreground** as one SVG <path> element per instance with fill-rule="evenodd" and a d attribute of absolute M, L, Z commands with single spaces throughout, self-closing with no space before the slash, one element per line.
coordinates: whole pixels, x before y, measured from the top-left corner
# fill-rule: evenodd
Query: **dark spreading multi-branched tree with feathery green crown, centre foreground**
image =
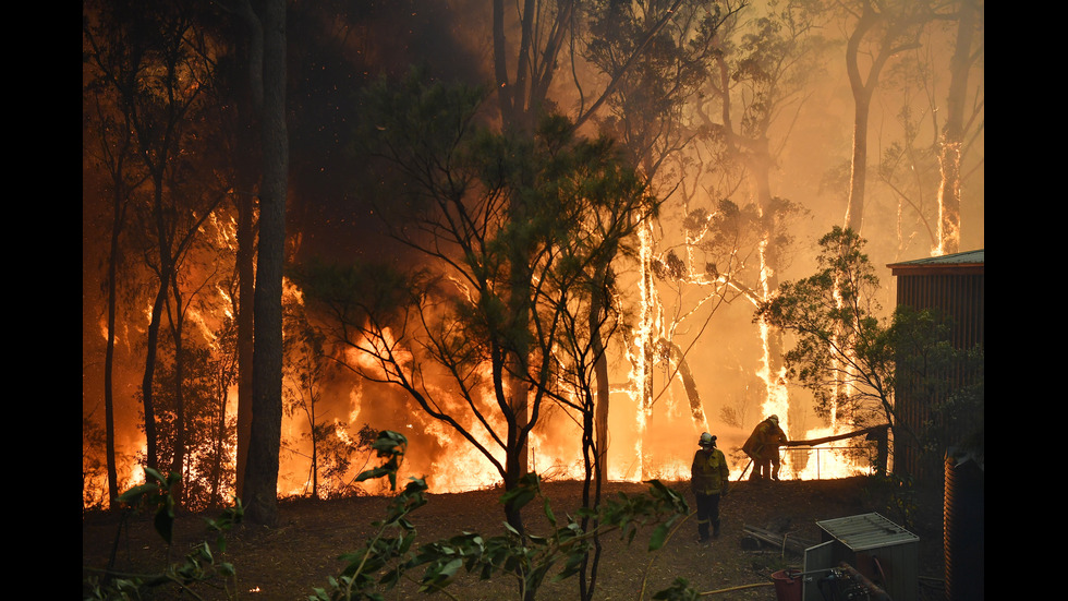
<path fill-rule="evenodd" d="M 352 369 L 404 389 L 511 491 L 559 387 L 568 316 L 655 203 L 607 140 L 563 118 L 494 133 L 478 123 L 480 91 L 420 80 L 383 83 L 365 106 L 384 190 L 400 193 L 376 213 L 425 268 L 319 269 L 305 289 L 329 308 Z M 522 530 L 518 507 L 505 513 Z"/>

